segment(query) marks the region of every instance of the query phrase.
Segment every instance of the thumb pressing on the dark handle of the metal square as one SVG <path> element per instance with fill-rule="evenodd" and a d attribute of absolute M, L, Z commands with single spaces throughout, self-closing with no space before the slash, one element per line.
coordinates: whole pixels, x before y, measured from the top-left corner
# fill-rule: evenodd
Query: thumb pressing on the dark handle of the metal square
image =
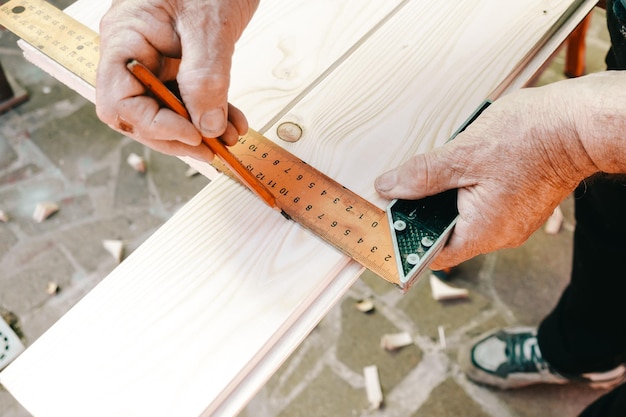
<path fill-rule="evenodd" d="M 385 198 L 416 200 L 458 188 L 458 175 L 451 168 L 447 146 L 415 155 L 399 167 L 378 177 L 376 191 Z"/>

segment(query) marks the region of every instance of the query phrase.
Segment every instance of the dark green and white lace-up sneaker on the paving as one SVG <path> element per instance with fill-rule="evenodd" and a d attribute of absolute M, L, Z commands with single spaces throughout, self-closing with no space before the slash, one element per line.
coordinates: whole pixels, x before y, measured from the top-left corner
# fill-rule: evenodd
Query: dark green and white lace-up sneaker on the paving
<path fill-rule="evenodd" d="M 554 371 L 541 356 L 537 331 L 513 327 L 492 331 L 459 350 L 459 363 L 469 379 L 501 389 L 532 384 L 585 383 L 611 388 L 624 381 L 626 367 L 611 371 L 566 377 Z"/>

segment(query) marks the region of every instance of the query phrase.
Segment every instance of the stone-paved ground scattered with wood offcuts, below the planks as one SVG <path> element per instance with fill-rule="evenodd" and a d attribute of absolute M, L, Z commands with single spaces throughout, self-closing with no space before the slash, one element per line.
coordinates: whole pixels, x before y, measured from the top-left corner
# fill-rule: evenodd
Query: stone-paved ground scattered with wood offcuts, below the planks
<path fill-rule="evenodd" d="M 53 1 L 65 6 L 70 1 Z M 588 39 L 588 70 L 603 69 L 608 47 L 603 14 Z M 116 265 L 103 239 L 121 239 L 127 253 L 142 243 L 208 181 L 185 176 L 175 158 L 142 148 L 102 125 L 93 105 L 24 62 L 15 38 L 0 32 L 0 62 L 29 100 L 0 116 L 0 313 L 17 319 L 34 341 Z M 558 79 L 562 56 L 541 82 Z M 148 171 L 125 162 L 143 155 Z M 61 210 L 37 224 L 37 202 Z M 469 382 L 459 371 L 459 344 L 494 326 L 537 324 L 567 284 L 573 230 L 571 201 L 558 235 L 537 232 L 522 247 L 463 264 L 451 281 L 464 301 L 438 302 L 427 279 L 402 296 L 366 274 L 319 324 L 241 417 L 459 416 L 573 417 L 602 392 L 583 387 L 533 387 L 501 392 Z M 60 286 L 50 295 L 49 282 Z M 375 311 L 359 312 L 356 300 Z M 445 334 L 442 345 L 440 330 Z M 380 337 L 405 331 L 414 343 L 395 353 Z M 363 367 L 377 365 L 385 404 L 368 410 Z M 28 414 L 0 387 L 0 415 Z"/>

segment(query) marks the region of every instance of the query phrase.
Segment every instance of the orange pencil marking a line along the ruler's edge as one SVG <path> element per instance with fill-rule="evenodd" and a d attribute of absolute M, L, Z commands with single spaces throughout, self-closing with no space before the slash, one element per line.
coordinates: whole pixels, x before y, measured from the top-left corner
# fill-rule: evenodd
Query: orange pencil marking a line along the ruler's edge
<path fill-rule="evenodd" d="M 170 110 L 178 113 L 186 119 L 191 119 L 189 112 L 183 105 L 183 103 L 172 93 L 166 86 L 159 80 L 145 65 L 137 60 L 132 60 L 127 65 L 130 72 L 163 104 L 165 104 Z M 282 210 L 276 205 L 276 198 L 270 193 L 267 188 L 244 167 L 241 162 L 228 150 L 217 138 L 202 137 L 202 141 L 211 149 L 211 151 L 218 156 L 224 165 L 232 171 L 233 174 L 239 180 L 246 185 L 254 194 L 259 196 L 263 201 L 267 203 L 273 209 L 278 211 Z"/>

